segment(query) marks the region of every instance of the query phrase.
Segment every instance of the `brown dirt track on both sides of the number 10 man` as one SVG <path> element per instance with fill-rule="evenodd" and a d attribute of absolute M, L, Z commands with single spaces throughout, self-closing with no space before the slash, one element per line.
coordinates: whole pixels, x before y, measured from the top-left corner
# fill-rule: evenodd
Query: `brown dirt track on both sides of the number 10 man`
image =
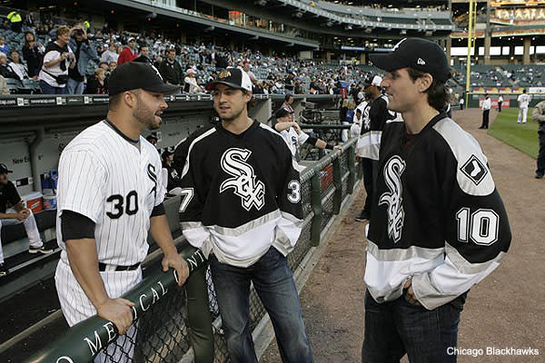
<path fill-rule="evenodd" d="M 492 111 L 490 119 L 496 114 Z M 544 362 L 545 181 L 533 178 L 535 160 L 478 130 L 480 110 L 454 112 L 453 118 L 477 138 L 489 158 L 513 233 L 507 259 L 479 286 L 471 289 L 461 315 L 459 348 L 475 349 L 476 357 L 459 356 L 458 361 Z M 361 361 L 364 225 L 354 222 L 353 217 L 362 205 L 363 195 L 360 195 L 302 290 L 303 318 L 317 363 Z M 487 355 L 489 347 L 537 348 L 540 355 Z M 280 361 L 273 343 L 261 362 Z"/>

